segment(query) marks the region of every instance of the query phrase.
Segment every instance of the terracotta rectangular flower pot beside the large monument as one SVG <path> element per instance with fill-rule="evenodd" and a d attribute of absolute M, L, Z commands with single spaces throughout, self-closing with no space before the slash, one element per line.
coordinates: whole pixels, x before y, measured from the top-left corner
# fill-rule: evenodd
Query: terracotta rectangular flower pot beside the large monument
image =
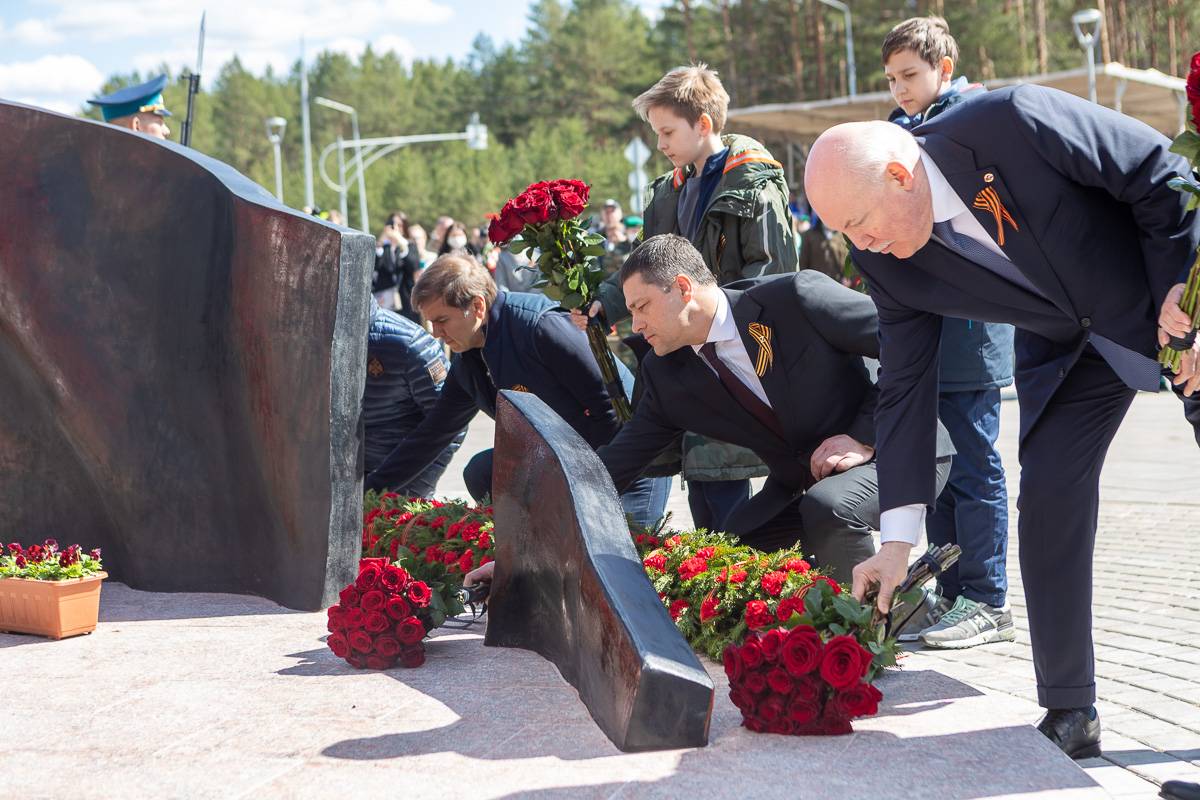
<path fill-rule="evenodd" d="M 100 616 L 98 572 L 71 581 L 0 578 L 0 631 L 61 639 L 96 630 Z"/>

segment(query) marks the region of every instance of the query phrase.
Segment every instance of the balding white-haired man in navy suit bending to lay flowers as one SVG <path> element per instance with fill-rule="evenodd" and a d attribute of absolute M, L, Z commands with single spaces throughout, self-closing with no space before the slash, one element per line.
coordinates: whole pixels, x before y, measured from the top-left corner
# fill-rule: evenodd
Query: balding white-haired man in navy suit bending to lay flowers
<path fill-rule="evenodd" d="M 809 200 L 853 243 L 880 312 L 880 553 L 854 570 L 884 604 L 935 487 L 942 314 L 1016 326 L 1021 575 L 1039 729 L 1099 753 L 1091 638 L 1099 475 L 1136 390 L 1157 391 L 1200 221 L 1166 184 L 1186 163 L 1116 112 L 1024 85 L 908 133 L 854 122 L 814 144 Z M 1165 326 L 1165 327 L 1164 327 Z M 1165 341 L 1165 339 L 1163 339 Z M 1190 395 L 1195 353 L 1176 377 Z M 1198 404 L 1189 397 L 1193 425 Z"/>

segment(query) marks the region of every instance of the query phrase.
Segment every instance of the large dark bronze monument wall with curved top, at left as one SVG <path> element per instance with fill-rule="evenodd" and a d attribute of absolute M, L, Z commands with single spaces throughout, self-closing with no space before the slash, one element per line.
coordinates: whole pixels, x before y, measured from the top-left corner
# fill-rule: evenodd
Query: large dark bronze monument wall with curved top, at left
<path fill-rule="evenodd" d="M 5 102 L 0 131 L 0 536 L 328 604 L 360 547 L 372 239 L 175 144 Z"/>

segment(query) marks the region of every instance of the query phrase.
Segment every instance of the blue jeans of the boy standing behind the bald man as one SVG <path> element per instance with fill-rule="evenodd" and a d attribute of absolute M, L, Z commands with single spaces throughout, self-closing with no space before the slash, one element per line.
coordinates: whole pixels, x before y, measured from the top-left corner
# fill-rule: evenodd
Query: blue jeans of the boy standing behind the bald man
<path fill-rule="evenodd" d="M 1000 435 L 1000 390 L 942 392 L 937 413 L 950 433 L 954 463 L 950 480 L 925 519 L 930 545 L 956 543 L 959 563 L 938 579 L 942 594 L 960 594 L 989 606 L 1003 606 L 1008 595 L 1008 491 L 996 452 Z"/>

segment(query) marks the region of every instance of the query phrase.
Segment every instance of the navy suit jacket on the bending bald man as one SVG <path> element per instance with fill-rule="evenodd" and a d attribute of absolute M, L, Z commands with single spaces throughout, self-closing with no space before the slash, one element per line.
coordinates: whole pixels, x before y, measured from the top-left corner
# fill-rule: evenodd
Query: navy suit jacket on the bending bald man
<path fill-rule="evenodd" d="M 1200 240 L 1200 219 L 1166 186 L 1187 163 L 1164 136 L 1111 109 L 1022 85 L 962 103 L 913 134 L 1044 296 L 934 240 L 908 259 L 851 251 L 880 312 L 883 510 L 934 498 L 942 314 L 1016 326 L 1024 439 L 1091 331 L 1154 356 L 1158 309 Z"/>

